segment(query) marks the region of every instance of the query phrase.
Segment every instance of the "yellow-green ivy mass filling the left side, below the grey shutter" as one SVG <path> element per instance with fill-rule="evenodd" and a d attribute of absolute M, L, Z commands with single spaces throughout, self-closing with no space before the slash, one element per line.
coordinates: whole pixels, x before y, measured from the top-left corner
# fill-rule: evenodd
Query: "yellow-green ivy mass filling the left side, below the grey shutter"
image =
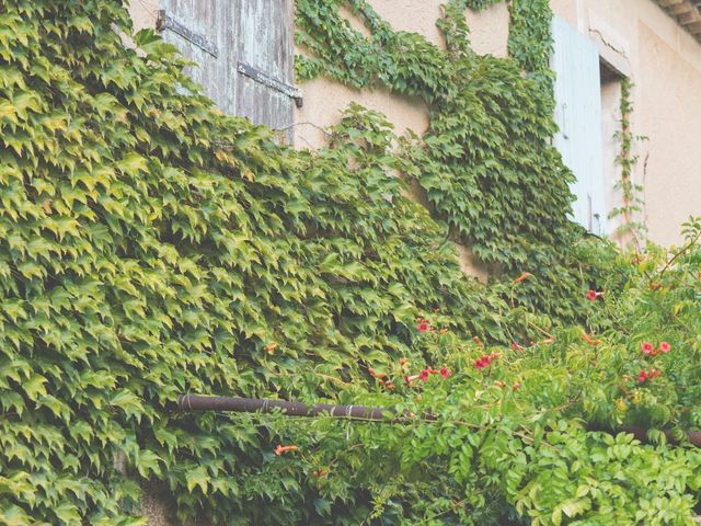
<path fill-rule="evenodd" d="M 152 33 L 126 49 L 120 2 L 2 8 L 0 522 L 142 524 L 138 483 L 159 481 L 183 521 L 358 524 L 374 459 L 317 488 L 271 461 L 279 426 L 169 410 L 348 396 L 367 365 L 421 356 L 435 306 L 504 336 L 506 304 L 387 176 L 387 123 L 356 108 L 333 148 L 280 148 Z"/>

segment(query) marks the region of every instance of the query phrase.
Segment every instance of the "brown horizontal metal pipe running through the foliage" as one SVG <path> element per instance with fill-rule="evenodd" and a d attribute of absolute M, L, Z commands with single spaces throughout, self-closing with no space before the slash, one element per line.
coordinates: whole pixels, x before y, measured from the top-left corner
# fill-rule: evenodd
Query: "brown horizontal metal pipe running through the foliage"
<path fill-rule="evenodd" d="M 416 421 L 409 411 L 404 411 L 401 416 L 397 412 L 387 408 L 370 408 L 367 405 L 334 405 L 331 403 L 317 403 L 308 405 L 303 402 L 288 402 L 287 400 L 260 400 L 256 398 L 234 398 L 234 397 L 203 397 L 199 395 L 181 395 L 177 397 L 177 408 L 181 411 L 233 411 L 237 413 L 272 413 L 281 410 L 287 416 L 333 416 L 336 419 L 361 420 L 370 422 L 406 423 Z M 394 418 L 392 418 L 394 416 Z M 424 414 L 421 420 L 435 422 L 437 419 L 432 414 Z M 593 428 L 590 431 L 606 431 Z M 641 442 L 647 441 L 647 430 L 643 427 L 621 427 L 614 433 L 630 433 Z M 665 436 L 671 443 L 674 439 L 671 431 L 665 430 Z M 687 432 L 689 442 L 701 447 L 701 432 Z"/>

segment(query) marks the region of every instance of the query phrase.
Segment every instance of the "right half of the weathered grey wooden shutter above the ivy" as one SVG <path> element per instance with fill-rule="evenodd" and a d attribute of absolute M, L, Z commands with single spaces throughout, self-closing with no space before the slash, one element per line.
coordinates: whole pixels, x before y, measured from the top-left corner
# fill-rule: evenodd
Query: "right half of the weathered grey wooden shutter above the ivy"
<path fill-rule="evenodd" d="M 238 61 L 289 85 L 294 80 L 294 0 L 237 0 L 234 12 Z M 294 100 L 289 94 L 250 76 L 235 75 L 237 115 L 276 129 L 294 124 Z"/>

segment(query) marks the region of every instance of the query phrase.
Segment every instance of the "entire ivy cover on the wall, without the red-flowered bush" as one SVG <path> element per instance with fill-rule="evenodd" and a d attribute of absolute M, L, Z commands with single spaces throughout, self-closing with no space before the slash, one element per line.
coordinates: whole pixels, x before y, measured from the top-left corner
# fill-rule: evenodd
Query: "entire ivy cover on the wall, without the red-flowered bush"
<path fill-rule="evenodd" d="M 566 219 L 547 2 L 512 3 L 513 58 L 495 59 L 469 47 L 468 2 L 438 21 L 443 50 L 366 2 L 348 5 L 369 39 L 340 2 L 300 0 L 300 78 L 386 85 L 432 111 L 423 137 L 400 140 L 353 106 L 319 152 L 221 115 L 152 32 L 125 48 L 119 0 L 0 5 L 5 524 L 143 524 L 148 481 L 181 519 L 357 525 L 387 451 L 336 434 L 348 469 L 315 482 L 313 464 L 271 461 L 275 419 L 172 413 L 176 396 L 353 401 L 368 367 L 434 359 L 417 317 L 509 345 L 539 338 L 533 320 L 595 308 L 585 293 L 617 255 Z M 453 239 L 494 266 L 490 286 L 460 272 Z M 409 484 L 391 516 L 411 522 L 409 503 L 439 491 Z"/>

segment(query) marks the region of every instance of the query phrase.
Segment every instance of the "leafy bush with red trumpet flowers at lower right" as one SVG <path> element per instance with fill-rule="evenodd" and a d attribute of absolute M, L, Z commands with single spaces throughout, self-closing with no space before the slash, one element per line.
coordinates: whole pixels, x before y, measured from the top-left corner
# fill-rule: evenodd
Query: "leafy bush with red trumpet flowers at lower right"
<path fill-rule="evenodd" d="M 694 524 L 701 450 L 687 432 L 701 428 L 700 237 L 691 222 L 671 254 L 651 247 L 621 261 L 623 290 L 590 291 L 593 323 L 608 325 L 597 334 L 532 321 L 539 341 L 487 348 L 441 328 L 440 311 L 420 318 L 416 346 L 433 361 L 372 369 L 377 388 L 353 397 L 409 415 L 345 431 L 387 455 L 375 514 L 399 505 L 425 524 Z M 298 469 L 353 469 L 318 460 L 326 434 L 280 430 L 303 444 Z"/>

